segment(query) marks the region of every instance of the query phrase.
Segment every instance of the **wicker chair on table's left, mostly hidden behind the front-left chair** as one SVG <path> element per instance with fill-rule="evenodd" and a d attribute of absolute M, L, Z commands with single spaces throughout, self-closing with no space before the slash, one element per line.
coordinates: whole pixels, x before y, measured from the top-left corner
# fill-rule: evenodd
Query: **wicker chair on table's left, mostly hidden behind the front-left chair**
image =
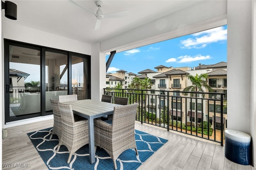
<path fill-rule="evenodd" d="M 52 112 L 53 112 L 53 128 L 52 133 L 50 136 L 50 140 L 52 139 L 52 136 L 55 134 L 60 139 L 61 137 L 61 118 L 60 118 L 60 109 L 58 106 L 58 101 L 50 99 L 51 105 L 52 105 Z"/>

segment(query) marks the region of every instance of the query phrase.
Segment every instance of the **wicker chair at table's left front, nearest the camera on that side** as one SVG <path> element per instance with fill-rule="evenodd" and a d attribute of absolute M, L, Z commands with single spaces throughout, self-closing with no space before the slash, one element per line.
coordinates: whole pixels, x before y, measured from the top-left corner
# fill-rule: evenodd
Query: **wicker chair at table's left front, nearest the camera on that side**
<path fill-rule="evenodd" d="M 61 145 L 65 145 L 69 151 L 68 162 L 72 154 L 82 146 L 89 143 L 88 120 L 75 121 L 72 106 L 58 102 L 60 117 L 62 120 L 62 134 L 59 140 L 57 152 Z"/>

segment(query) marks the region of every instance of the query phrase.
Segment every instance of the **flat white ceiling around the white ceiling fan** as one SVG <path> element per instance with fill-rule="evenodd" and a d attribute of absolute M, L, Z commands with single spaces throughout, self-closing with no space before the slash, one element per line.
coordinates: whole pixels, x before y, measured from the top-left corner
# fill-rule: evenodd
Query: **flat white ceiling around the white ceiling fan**
<path fill-rule="evenodd" d="M 96 17 L 72 0 L 10 0 L 18 6 L 17 20 L 2 20 L 85 43 L 95 43 L 127 32 L 186 8 L 200 0 L 102 0 L 103 14 L 128 10 L 124 18 L 103 18 L 94 31 Z M 96 13 L 96 0 L 76 0 Z"/>

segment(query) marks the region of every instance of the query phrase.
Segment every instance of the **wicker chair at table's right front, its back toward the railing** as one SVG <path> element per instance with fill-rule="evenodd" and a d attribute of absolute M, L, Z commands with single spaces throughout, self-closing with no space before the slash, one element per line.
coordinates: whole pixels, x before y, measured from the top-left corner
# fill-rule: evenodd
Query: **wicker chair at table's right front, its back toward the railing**
<path fill-rule="evenodd" d="M 124 150 L 134 148 L 138 150 L 135 142 L 134 125 L 138 104 L 114 107 L 112 125 L 100 119 L 94 119 L 94 145 L 102 147 L 117 169 L 116 159 Z"/>

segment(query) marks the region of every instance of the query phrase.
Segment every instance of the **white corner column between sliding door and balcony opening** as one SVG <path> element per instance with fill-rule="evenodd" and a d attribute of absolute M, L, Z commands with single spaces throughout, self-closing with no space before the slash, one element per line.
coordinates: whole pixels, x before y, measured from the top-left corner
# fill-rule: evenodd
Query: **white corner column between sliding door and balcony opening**
<path fill-rule="evenodd" d="M 92 44 L 91 99 L 101 100 L 103 88 L 106 88 L 106 53 L 101 53 L 98 42 Z"/>

